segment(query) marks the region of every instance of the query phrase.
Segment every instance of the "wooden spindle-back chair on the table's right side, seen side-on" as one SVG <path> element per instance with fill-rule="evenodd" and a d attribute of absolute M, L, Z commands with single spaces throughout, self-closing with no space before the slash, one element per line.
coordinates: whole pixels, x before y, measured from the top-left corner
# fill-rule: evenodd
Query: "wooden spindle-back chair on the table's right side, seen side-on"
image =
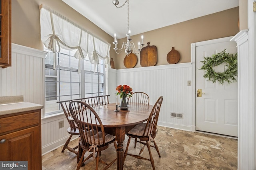
<path fill-rule="evenodd" d="M 126 134 L 129 137 L 129 139 L 127 142 L 126 150 L 124 152 L 124 160 L 127 155 L 133 156 L 138 159 L 150 160 L 150 162 L 152 164 L 152 168 L 153 168 L 153 170 L 155 170 L 154 159 L 152 157 L 150 147 L 154 147 L 156 149 L 156 151 L 158 152 L 159 157 L 161 157 L 160 152 L 158 150 L 158 146 L 156 145 L 156 142 L 155 142 L 155 137 L 156 137 L 156 133 L 157 133 L 156 125 L 158 122 L 158 116 L 159 116 L 160 107 L 162 105 L 162 102 L 163 102 L 163 96 L 160 96 L 160 98 L 158 98 L 158 100 L 156 101 L 156 104 L 152 108 L 152 111 L 148 117 L 148 121 L 146 123 L 140 123 L 140 124 L 136 125 L 132 130 L 130 130 Z M 138 139 L 140 139 L 140 143 L 144 144 L 144 146 L 142 147 L 142 149 L 140 150 L 140 153 L 138 155 L 128 153 L 128 147 L 129 147 L 131 138 L 138 138 Z M 154 146 L 150 144 L 151 141 L 153 141 Z M 140 154 L 142 153 L 145 146 L 148 147 L 150 159 L 140 156 Z"/>

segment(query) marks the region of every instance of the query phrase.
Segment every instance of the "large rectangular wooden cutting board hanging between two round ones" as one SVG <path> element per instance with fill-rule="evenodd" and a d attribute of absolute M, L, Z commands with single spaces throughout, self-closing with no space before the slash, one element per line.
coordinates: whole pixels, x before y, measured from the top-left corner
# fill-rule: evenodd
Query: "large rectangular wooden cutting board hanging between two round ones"
<path fill-rule="evenodd" d="M 143 47 L 140 51 L 140 65 L 145 66 L 155 66 L 157 62 L 157 48 L 154 45 L 149 45 Z"/>

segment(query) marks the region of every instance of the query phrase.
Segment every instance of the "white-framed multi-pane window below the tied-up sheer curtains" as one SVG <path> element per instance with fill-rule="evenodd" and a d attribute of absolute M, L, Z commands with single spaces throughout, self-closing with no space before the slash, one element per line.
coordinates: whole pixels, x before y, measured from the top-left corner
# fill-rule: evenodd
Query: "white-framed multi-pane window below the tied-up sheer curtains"
<path fill-rule="evenodd" d="M 57 53 L 56 70 L 53 70 L 53 53 L 48 52 L 45 59 L 45 101 L 46 115 L 62 112 L 58 101 L 105 95 L 104 61 L 91 64 L 88 56 L 81 62 L 78 74 L 78 59 L 74 51 L 61 49 Z"/>

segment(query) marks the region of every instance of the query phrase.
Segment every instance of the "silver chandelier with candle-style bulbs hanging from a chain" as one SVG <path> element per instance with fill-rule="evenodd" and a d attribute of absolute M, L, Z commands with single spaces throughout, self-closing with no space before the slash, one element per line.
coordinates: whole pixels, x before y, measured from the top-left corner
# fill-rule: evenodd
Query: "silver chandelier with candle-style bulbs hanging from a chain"
<path fill-rule="evenodd" d="M 118 49 L 117 48 L 118 42 L 116 40 L 116 33 L 115 33 L 113 44 L 115 45 L 114 50 L 116 51 L 117 54 L 120 54 L 122 52 L 122 50 L 125 49 L 124 52 L 127 54 L 127 56 L 129 56 L 129 54 L 132 52 L 134 52 L 135 54 L 139 54 L 144 44 L 143 44 L 143 35 L 141 35 L 141 43 L 138 42 L 138 49 L 136 49 L 134 43 L 131 42 L 132 41 L 131 36 L 130 36 L 131 31 L 129 29 L 129 0 L 126 0 L 124 2 L 124 4 L 122 4 L 122 6 L 119 6 L 119 7 L 117 6 L 119 4 L 118 0 L 112 1 L 112 3 L 116 6 L 116 8 L 122 8 L 126 4 L 126 2 L 127 2 L 127 34 L 126 34 L 127 41 L 123 42 L 122 47 L 120 49 Z M 136 53 L 136 51 L 137 51 L 137 53 Z"/>

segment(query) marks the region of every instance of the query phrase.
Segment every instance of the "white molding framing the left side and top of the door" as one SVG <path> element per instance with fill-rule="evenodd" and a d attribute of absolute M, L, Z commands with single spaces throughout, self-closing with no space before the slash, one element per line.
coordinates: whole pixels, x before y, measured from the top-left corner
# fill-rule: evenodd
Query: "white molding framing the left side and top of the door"
<path fill-rule="evenodd" d="M 232 39 L 233 36 L 230 37 L 224 37 L 224 38 L 218 38 L 218 39 L 212 39 L 207 41 L 200 41 L 196 43 L 191 44 L 191 64 L 192 64 L 192 70 L 191 70 L 191 77 L 192 77 L 192 95 L 191 95 L 191 101 L 192 101 L 192 115 L 191 115 L 191 131 L 196 131 L 196 47 L 202 46 L 202 45 L 210 45 L 215 43 L 222 43 L 227 42 Z"/>

